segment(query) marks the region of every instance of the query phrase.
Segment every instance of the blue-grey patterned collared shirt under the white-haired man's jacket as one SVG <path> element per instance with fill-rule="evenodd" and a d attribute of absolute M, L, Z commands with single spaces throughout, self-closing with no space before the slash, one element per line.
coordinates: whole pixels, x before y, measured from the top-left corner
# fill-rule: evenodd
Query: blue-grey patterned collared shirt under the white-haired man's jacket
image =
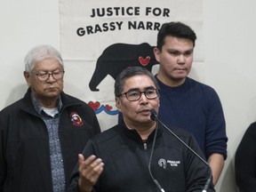
<path fill-rule="evenodd" d="M 33 93 L 31 93 L 31 98 L 34 108 L 44 120 L 48 130 L 52 169 L 52 188 L 54 192 L 62 192 L 65 190 L 65 173 L 58 132 L 62 101 L 61 98 L 59 98 L 59 100 L 57 100 L 57 108 L 49 109 L 43 108 L 38 100 L 36 100 Z"/>

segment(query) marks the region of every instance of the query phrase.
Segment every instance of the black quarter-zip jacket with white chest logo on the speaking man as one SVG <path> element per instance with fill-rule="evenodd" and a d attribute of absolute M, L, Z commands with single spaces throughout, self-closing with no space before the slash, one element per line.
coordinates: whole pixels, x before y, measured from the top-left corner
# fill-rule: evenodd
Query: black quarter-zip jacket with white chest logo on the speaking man
<path fill-rule="evenodd" d="M 175 128 L 172 128 L 172 131 L 203 156 L 190 133 Z M 148 172 L 154 134 L 155 132 L 152 132 L 144 143 L 136 131 L 130 131 L 120 123 L 89 140 L 83 151 L 84 157 L 94 154 L 104 163 L 104 171 L 93 191 L 156 192 L 156 185 Z M 164 127 L 157 130 L 151 170 L 165 192 L 202 192 L 206 180 L 210 177 L 207 165 Z M 78 191 L 78 176 L 76 164 L 69 191 Z M 208 192 L 212 191 L 215 190 L 211 185 Z"/>

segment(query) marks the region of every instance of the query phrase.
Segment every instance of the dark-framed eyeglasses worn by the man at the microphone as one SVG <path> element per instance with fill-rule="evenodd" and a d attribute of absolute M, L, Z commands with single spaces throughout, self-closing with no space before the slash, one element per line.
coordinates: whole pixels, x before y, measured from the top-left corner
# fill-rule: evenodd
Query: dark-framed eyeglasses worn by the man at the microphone
<path fill-rule="evenodd" d="M 148 100 L 154 100 L 158 97 L 158 90 L 157 89 L 148 89 L 144 92 L 140 92 L 138 90 L 132 90 L 129 92 L 124 92 L 116 97 L 121 97 L 123 95 L 126 96 L 127 100 L 130 101 L 136 101 L 136 100 L 140 100 L 141 94 L 144 93 L 144 95 L 146 96 L 146 98 Z"/>

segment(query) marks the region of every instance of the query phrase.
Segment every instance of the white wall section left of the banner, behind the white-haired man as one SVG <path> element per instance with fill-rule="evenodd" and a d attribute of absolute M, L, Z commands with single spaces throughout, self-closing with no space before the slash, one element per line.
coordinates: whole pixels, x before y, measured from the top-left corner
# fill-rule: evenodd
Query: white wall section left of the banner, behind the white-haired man
<path fill-rule="evenodd" d="M 0 0 L 0 109 L 26 92 L 24 56 L 36 44 L 60 48 L 59 2 Z"/>

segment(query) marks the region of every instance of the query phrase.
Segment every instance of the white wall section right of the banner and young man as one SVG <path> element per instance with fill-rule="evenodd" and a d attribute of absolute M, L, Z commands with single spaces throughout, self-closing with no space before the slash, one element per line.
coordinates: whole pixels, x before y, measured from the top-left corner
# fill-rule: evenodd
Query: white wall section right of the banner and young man
<path fill-rule="evenodd" d="M 217 186 L 221 192 L 236 191 L 236 148 L 256 120 L 255 6 L 253 0 L 204 1 L 205 83 L 219 93 L 227 121 L 228 159 Z"/>

